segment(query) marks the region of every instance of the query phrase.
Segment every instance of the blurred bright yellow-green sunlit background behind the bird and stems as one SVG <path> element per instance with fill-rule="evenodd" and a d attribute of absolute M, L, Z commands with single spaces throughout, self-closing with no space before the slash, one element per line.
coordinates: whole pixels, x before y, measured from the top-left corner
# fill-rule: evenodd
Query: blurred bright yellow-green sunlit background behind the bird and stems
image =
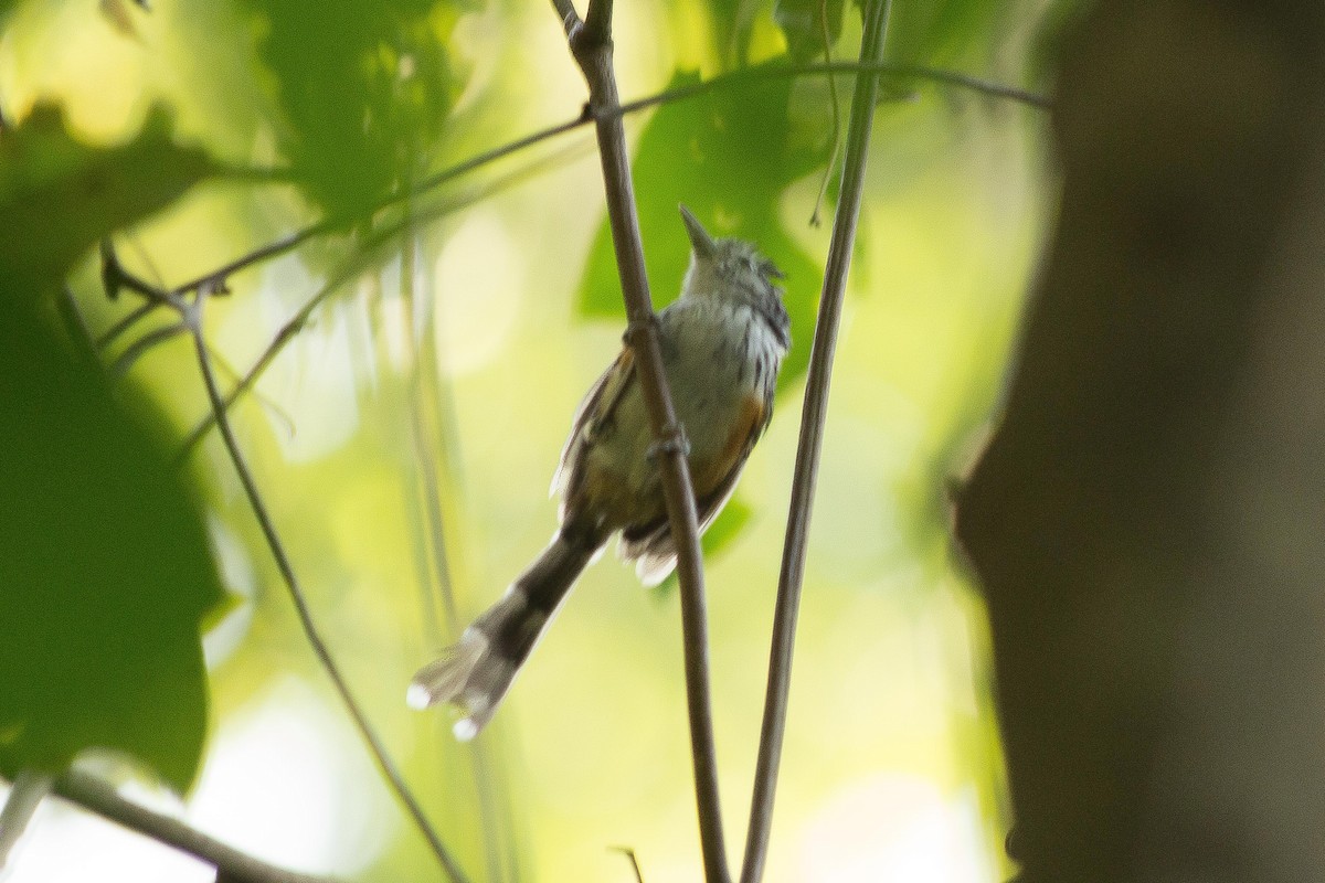
<path fill-rule="evenodd" d="M 545 5 L 476 5 L 456 24 L 453 52 L 470 81 L 450 162 L 579 113 L 583 82 Z M 1047 4 L 1010 5 L 1019 11 L 988 45 L 954 66 L 1019 79 Z M 21 118 L 57 95 L 85 136 L 117 139 L 164 101 L 186 138 L 270 163 L 273 136 L 254 110 L 262 98 L 245 77 L 252 62 L 223 50 L 242 45 L 244 19 L 197 0 L 127 13 L 129 33 L 91 3 L 19 4 L 0 38 L 7 113 Z M 617 16 L 627 98 L 657 91 L 677 68 L 714 71 L 689 4 L 619 4 Z M 761 40 L 763 54 L 778 50 L 771 26 Z M 847 78 L 840 86 L 849 93 Z M 629 118 L 628 135 L 647 120 Z M 1008 871 L 987 635 L 947 537 L 945 488 L 998 400 L 1051 208 L 1044 138 L 1037 111 L 949 91 L 896 94 L 880 109 L 810 541 L 772 883 L 983 883 Z M 447 711 L 403 702 L 413 670 L 555 528 L 546 488 L 571 413 L 620 346 L 621 324 L 584 316 L 576 295 L 603 218 L 599 175 L 580 130 L 457 183 L 447 192 L 460 208 L 348 271 L 338 267 L 359 246 L 330 238 L 237 274 L 233 294 L 208 306 L 212 346 L 242 372 L 335 281 L 235 412 L 240 443 L 351 687 L 478 880 L 631 880 L 617 847 L 635 851 L 648 883 L 700 879 L 674 589 L 641 589 L 604 556 L 473 747 L 454 744 Z M 779 205 L 822 266 L 828 225 L 808 224 L 819 181 L 806 176 Z M 126 265 L 172 283 L 311 217 L 281 187 L 209 184 L 119 245 Z M 686 259 L 645 246 L 655 267 Z M 820 281 L 787 286 L 816 291 Z M 94 328 L 131 306 L 99 295 L 91 261 L 74 289 Z M 808 344 L 807 334 L 795 342 Z M 205 413 L 184 339 L 146 355 L 130 377 L 166 405 L 180 438 Z M 708 561 L 733 857 L 749 812 L 800 398 L 799 381 L 779 398 L 741 483 L 751 516 Z M 143 784 L 126 794 L 290 868 L 440 879 L 309 650 L 215 433 L 187 471 L 225 584 L 244 601 L 207 637 L 213 716 L 196 789 L 183 802 Z M 9 868 L 24 883 L 211 874 L 54 801 Z"/>

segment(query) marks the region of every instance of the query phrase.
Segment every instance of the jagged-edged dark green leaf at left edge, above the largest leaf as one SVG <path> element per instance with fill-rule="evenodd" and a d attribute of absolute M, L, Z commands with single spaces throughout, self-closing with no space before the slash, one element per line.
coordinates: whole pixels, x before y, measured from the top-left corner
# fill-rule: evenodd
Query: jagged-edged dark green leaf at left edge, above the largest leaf
<path fill-rule="evenodd" d="M 0 135 L 0 277 L 8 294 L 36 299 L 102 237 L 160 210 L 215 171 L 199 150 L 171 140 L 152 111 L 138 136 L 93 147 L 73 138 L 60 109 L 40 105 Z"/>

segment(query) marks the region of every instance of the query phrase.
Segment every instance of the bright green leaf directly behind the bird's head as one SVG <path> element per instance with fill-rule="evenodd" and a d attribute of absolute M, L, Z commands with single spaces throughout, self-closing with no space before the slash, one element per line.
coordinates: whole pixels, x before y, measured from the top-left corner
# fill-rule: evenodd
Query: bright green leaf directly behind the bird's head
<path fill-rule="evenodd" d="M 680 73 L 670 87 L 697 83 Z M 827 135 L 802 138 L 788 111 L 790 78 L 751 79 L 662 106 L 640 136 L 633 163 L 640 230 L 649 256 L 655 302 L 681 290 L 690 246 L 677 213 L 685 203 L 714 236 L 755 242 L 787 274 L 791 352 L 780 388 L 810 364 L 820 267 L 782 226 L 778 203 L 798 179 L 828 159 Z M 823 120 L 816 120 L 820 126 Z M 584 315 L 624 318 L 612 234 L 604 218 L 590 250 L 579 291 Z"/>

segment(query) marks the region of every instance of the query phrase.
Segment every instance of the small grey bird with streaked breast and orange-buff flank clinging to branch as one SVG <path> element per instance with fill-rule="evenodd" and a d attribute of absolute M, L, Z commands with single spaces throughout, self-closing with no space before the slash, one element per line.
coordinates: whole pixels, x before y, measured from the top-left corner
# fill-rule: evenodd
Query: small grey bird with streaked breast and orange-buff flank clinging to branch
<path fill-rule="evenodd" d="M 730 499 L 772 418 L 791 320 L 776 285 L 783 274 L 771 259 L 745 240 L 710 236 L 690 209 L 680 210 L 690 261 L 681 295 L 657 314 L 656 327 L 702 532 Z M 656 454 L 635 351 L 625 344 L 571 421 L 553 477 L 560 506 L 551 543 L 454 646 L 419 670 L 405 695 L 409 707 L 456 706 L 464 712 L 456 737 L 478 735 L 613 534 L 620 532 L 621 559 L 636 561 L 645 585 L 670 573 L 676 541 Z"/>

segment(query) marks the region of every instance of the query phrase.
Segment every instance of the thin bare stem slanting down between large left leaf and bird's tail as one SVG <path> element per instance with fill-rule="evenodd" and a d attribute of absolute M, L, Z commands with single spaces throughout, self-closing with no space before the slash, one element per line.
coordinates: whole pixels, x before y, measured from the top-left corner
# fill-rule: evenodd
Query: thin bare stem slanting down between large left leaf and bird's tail
<path fill-rule="evenodd" d="M 317 624 L 313 620 L 313 612 L 309 608 L 307 600 L 303 596 L 303 589 L 299 586 L 298 577 L 294 573 L 294 565 L 290 563 L 290 557 L 285 551 L 285 544 L 281 541 L 281 536 L 276 530 L 276 523 L 272 520 L 272 515 L 266 510 L 266 503 L 262 500 L 257 482 L 253 479 L 248 462 L 244 459 L 244 453 L 240 450 L 238 440 L 235 437 L 229 416 L 225 413 L 225 401 L 221 398 L 221 391 L 216 383 L 216 373 L 212 369 L 212 357 L 207 348 L 207 340 L 203 338 L 201 308 L 205 302 L 205 297 L 199 297 L 184 316 L 184 320 L 187 322 L 193 336 L 193 348 L 197 352 L 197 364 L 203 375 L 203 384 L 207 388 L 207 397 L 212 405 L 212 413 L 216 417 L 216 426 L 220 430 L 221 440 L 225 442 L 225 447 L 231 454 L 231 461 L 235 463 L 235 471 L 240 477 L 240 483 L 244 485 L 244 492 L 248 496 L 249 506 L 257 516 L 258 526 L 262 530 L 262 536 L 266 537 L 268 547 L 272 549 L 272 556 L 276 559 L 276 565 L 281 571 L 281 577 L 285 580 L 285 585 L 290 592 L 290 600 L 294 602 L 294 609 L 298 613 L 299 625 L 303 627 L 303 635 L 307 639 L 309 646 L 313 647 L 313 653 L 317 655 L 322 669 L 331 679 L 335 691 L 339 694 L 346 710 L 350 712 L 350 716 L 354 720 L 355 727 L 359 729 L 359 733 L 363 736 L 364 743 L 367 743 L 374 760 L 382 769 L 382 774 L 387 778 L 387 782 L 395 792 L 396 798 L 413 819 L 415 826 L 423 834 L 424 839 L 428 841 L 429 847 L 432 847 L 433 854 L 437 857 L 437 862 L 452 880 L 456 883 L 465 883 L 465 874 L 460 870 L 460 866 L 450 855 L 450 851 L 441 842 L 441 838 L 432 827 L 427 815 L 424 815 L 423 808 L 419 805 L 419 801 L 415 800 L 409 786 L 405 785 L 404 777 L 400 774 L 400 770 L 396 769 L 395 761 L 392 761 L 391 756 L 387 753 L 386 745 L 383 745 L 376 731 L 374 731 L 372 724 L 368 721 L 367 715 L 364 715 L 362 706 L 350 691 L 350 684 L 341 673 L 339 665 L 337 665 L 335 659 L 331 657 L 331 651 L 322 639 L 322 634 L 318 631 Z"/>

